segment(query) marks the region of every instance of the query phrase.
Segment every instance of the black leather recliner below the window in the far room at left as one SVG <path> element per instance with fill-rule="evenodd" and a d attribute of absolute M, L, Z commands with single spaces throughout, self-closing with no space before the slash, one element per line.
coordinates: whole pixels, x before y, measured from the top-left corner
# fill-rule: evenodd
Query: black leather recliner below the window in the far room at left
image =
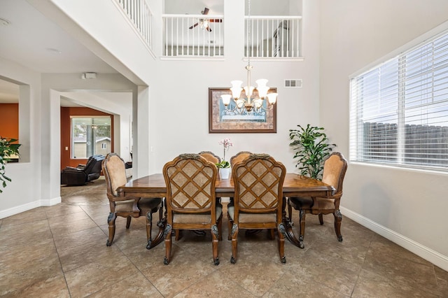
<path fill-rule="evenodd" d="M 92 155 L 85 166 L 76 168 L 67 166 L 61 171 L 61 185 L 84 185 L 85 183 L 98 179 L 101 174 L 101 163 L 103 155 Z"/>

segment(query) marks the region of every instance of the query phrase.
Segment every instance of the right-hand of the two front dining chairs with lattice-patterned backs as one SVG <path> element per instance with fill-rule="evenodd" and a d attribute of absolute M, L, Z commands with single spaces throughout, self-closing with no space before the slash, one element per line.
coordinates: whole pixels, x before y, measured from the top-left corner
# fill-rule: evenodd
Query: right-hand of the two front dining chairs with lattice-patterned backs
<path fill-rule="evenodd" d="M 232 169 L 234 206 L 228 206 L 228 216 L 233 222 L 229 227 L 232 231 L 232 264 L 237 262 L 239 229 L 276 229 L 280 260 L 286 263 L 282 221 L 285 176 L 285 166 L 266 154 L 251 154 L 235 164 Z"/>

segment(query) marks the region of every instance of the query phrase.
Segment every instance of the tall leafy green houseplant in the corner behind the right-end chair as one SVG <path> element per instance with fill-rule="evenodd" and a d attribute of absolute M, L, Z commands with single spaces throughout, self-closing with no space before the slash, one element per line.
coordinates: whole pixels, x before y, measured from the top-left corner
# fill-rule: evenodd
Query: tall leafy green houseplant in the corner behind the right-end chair
<path fill-rule="evenodd" d="M 336 144 L 328 143 L 323 127 L 307 125 L 306 128 L 297 125 L 299 129 L 289 129 L 289 146 L 295 151 L 295 165 L 303 176 L 322 179 L 323 162 L 330 155 Z"/>

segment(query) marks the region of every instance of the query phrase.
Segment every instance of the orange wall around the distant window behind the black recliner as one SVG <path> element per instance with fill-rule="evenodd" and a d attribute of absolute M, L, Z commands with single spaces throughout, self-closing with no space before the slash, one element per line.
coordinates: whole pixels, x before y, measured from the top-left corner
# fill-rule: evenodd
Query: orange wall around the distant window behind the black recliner
<path fill-rule="evenodd" d="M 103 113 L 92 108 L 80 107 L 61 107 L 61 169 L 66 166 L 78 166 L 78 164 L 85 164 L 87 159 L 71 159 L 71 141 L 70 141 L 70 116 L 112 116 L 108 113 Z M 113 117 L 111 120 L 111 141 L 113 152 Z M 68 150 L 65 150 L 65 148 Z"/>

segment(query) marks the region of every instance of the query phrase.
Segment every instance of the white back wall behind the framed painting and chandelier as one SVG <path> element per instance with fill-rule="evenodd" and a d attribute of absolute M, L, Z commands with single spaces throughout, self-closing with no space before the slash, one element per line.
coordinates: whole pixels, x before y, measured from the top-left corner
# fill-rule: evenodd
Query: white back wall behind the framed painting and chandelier
<path fill-rule="evenodd" d="M 156 70 L 162 76 L 151 85 L 151 172 L 160 173 L 168 160 L 183 152 L 211 150 L 223 157 L 223 146 L 230 138 L 234 146 L 226 156 L 241 150 L 267 152 L 295 171 L 293 152 L 288 144 L 289 129 L 296 125 L 319 122 L 318 90 L 318 1 L 304 5 L 304 61 L 251 61 L 252 80 L 267 78 L 277 87 L 276 134 L 209 134 L 209 87 L 230 87 L 231 80 L 246 81 L 247 61 L 243 61 L 244 1 L 226 0 L 224 14 L 232 15 L 225 22 L 225 32 L 234 32 L 225 40 L 225 58 L 215 61 L 158 61 Z M 285 88 L 285 79 L 302 79 L 302 88 Z"/>

